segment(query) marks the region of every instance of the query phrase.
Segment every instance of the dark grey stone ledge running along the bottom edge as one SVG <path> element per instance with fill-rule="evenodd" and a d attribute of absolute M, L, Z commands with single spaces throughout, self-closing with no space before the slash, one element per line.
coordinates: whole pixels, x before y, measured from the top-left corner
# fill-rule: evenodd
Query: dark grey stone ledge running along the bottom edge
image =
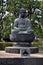
<path fill-rule="evenodd" d="M 43 58 L 0 58 L 0 65 L 43 65 Z"/>

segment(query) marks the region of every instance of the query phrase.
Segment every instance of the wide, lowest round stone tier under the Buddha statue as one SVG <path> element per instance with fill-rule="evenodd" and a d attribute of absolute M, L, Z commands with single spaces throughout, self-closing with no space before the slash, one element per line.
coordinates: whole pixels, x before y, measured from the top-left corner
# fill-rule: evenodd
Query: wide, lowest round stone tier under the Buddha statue
<path fill-rule="evenodd" d="M 6 47 L 5 51 L 8 53 L 20 53 L 20 50 L 30 49 L 30 53 L 38 53 L 38 47 Z"/>

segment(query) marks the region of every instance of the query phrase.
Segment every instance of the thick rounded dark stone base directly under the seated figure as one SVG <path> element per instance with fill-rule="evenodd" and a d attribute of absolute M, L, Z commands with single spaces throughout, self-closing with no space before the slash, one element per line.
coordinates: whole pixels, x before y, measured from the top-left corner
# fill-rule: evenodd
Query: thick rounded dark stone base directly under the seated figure
<path fill-rule="evenodd" d="M 32 42 L 35 38 L 34 33 L 13 33 L 10 35 L 14 42 Z M 13 36 L 13 37 L 12 37 Z"/>

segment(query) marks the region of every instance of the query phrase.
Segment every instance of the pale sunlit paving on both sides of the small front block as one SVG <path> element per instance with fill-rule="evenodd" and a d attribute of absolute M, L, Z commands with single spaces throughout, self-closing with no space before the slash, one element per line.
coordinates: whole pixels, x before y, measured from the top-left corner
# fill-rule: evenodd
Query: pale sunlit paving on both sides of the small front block
<path fill-rule="evenodd" d="M 43 58 L 43 54 L 40 54 L 40 53 L 30 54 L 29 57 Z M 5 51 L 0 51 L 0 58 L 22 58 L 22 57 L 20 54 L 6 53 Z"/>

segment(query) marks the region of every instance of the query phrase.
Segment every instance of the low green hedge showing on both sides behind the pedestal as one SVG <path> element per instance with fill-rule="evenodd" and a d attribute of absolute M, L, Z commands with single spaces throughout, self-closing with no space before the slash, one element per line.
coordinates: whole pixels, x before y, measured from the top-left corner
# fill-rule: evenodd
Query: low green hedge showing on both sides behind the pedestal
<path fill-rule="evenodd" d="M 0 50 L 5 50 L 5 47 L 12 46 L 13 42 L 0 42 Z M 32 46 L 39 47 L 41 46 L 41 42 L 32 42 Z"/>

